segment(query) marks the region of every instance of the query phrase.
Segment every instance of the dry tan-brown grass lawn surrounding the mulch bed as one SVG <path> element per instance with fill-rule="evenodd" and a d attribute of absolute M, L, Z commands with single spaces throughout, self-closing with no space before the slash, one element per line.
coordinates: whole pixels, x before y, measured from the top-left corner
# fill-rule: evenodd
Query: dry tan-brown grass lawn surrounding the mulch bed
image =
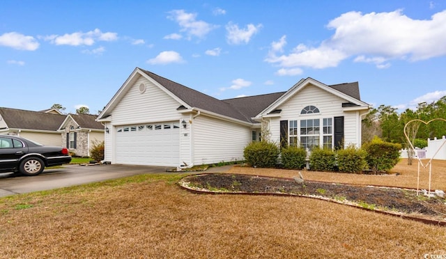
<path fill-rule="evenodd" d="M 308 179 L 328 178 L 357 184 L 387 182 L 392 186 L 416 187 L 417 165 L 406 166 L 405 162 L 394 169 L 401 173 L 397 176 L 302 173 Z M 263 171 L 246 169 L 243 172 L 243 168 L 234 167 L 233 171 L 256 174 Z M 433 170 L 436 187 L 445 187 L 446 166 L 434 161 Z M 265 169 L 262 173 L 273 172 Z M 277 176 L 295 173 L 275 171 Z M 192 194 L 176 185 L 183 175 L 137 175 L 0 198 L 0 257 L 423 258 L 425 254 L 446 255 L 445 227 L 309 198 Z"/>

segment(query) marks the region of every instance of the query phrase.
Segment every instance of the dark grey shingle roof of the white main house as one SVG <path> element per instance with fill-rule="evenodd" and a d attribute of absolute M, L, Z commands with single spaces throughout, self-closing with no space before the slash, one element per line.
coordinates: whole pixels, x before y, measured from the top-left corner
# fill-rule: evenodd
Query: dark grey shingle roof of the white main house
<path fill-rule="evenodd" d="M 291 89 L 293 89 L 296 85 L 300 84 L 307 79 L 302 79 L 298 84 L 293 86 L 289 91 L 279 92 L 279 93 L 270 93 L 265 95 L 255 95 L 248 97 L 240 97 L 240 98 L 232 98 L 227 100 L 218 100 L 214 97 L 196 91 L 192 88 L 188 88 L 187 86 L 183 86 L 182 84 L 178 84 L 174 81 L 161 77 L 153 72 L 143 70 L 141 68 L 136 68 L 126 83 L 121 86 L 113 99 L 107 104 L 106 109 L 100 114 L 99 118 L 107 118 L 110 116 L 110 112 L 108 108 L 110 105 L 116 105 L 116 102 L 120 99 L 119 95 L 125 93 L 123 88 L 132 81 L 132 77 L 135 72 L 142 72 L 146 76 L 150 77 L 154 81 L 156 81 L 160 86 L 164 87 L 167 91 L 169 91 L 172 95 L 178 97 L 179 100 L 183 101 L 189 107 L 187 109 L 197 108 L 202 109 L 204 111 L 210 111 L 213 113 L 220 114 L 221 116 L 227 116 L 229 118 L 233 118 L 236 120 L 241 120 L 246 123 L 254 123 L 252 120 L 255 116 L 259 115 L 261 111 L 269 107 L 273 102 L 277 101 L 279 97 L 284 96 L 286 93 L 289 93 Z M 313 81 L 316 81 L 312 79 Z M 321 83 L 322 84 L 322 83 Z M 357 82 L 347 83 L 347 84 L 335 84 L 332 86 L 328 86 L 332 88 L 334 92 L 339 92 L 341 95 L 348 95 L 353 97 L 354 99 L 360 101 L 359 94 L 359 85 Z"/>

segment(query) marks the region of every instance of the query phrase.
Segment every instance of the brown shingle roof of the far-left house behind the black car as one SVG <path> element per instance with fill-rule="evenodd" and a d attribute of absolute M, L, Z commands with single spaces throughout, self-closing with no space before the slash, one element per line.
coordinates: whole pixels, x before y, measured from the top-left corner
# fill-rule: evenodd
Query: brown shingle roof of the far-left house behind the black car
<path fill-rule="evenodd" d="M 9 129 L 45 131 L 56 131 L 66 118 L 60 114 L 4 107 L 0 107 L 0 116 Z"/>

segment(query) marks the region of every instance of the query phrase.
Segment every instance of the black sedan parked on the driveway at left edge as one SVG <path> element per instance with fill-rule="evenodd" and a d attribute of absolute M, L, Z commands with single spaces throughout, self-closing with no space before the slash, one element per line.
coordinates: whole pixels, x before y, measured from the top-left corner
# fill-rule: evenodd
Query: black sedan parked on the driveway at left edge
<path fill-rule="evenodd" d="M 18 136 L 0 135 L 0 172 L 38 175 L 45 166 L 68 164 L 67 148 L 43 146 Z"/>

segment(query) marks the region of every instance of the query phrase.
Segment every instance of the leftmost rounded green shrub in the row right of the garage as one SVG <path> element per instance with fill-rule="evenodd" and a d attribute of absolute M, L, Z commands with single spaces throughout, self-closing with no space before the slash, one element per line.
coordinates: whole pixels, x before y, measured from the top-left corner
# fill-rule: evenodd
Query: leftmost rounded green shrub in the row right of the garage
<path fill-rule="evenodd" d="M 254 141 L 243 150 L 246 162 L 256 167 L 275 167 L 279 157 L 279 147 L 268 141 Z"/>

